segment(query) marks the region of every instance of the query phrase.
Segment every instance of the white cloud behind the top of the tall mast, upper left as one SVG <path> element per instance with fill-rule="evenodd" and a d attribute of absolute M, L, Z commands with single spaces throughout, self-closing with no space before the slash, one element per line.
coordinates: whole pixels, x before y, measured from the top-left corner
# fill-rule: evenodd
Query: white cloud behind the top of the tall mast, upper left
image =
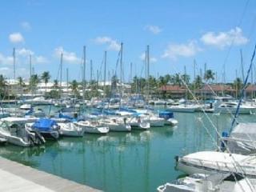
<path fill-rule="evenodd" d="M 60 58 L 61 54 L 63 54 L 63 62 L 74 63 L 74 64 L 81 62 L 81 59 L 78 58 L 77 54 L 75 54 L 74 52 L 68 52 L 64 50 L 62 46 L 59 46 L 54 50 L 54 56 L 56 58 Z"/>

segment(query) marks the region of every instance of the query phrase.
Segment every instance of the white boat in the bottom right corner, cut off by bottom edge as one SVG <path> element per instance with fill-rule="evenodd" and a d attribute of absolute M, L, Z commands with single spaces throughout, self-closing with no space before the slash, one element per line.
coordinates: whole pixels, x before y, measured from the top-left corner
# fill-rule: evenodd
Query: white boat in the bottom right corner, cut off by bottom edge
<path fill-rule="evenodd" d="M 158 192 L 254 192 L 256 179 L 240 174 L 192 174 L 158 186 Z"/>

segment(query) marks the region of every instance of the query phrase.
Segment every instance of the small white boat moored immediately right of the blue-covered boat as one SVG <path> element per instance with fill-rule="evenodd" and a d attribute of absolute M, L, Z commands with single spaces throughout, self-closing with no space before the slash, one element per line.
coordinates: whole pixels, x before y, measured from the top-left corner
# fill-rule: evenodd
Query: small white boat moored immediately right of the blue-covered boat
<path fill-rule="evenodd" d="M 63 136 L 82 137 L 85 130 L 74 122 L 58 122 L 59 132 Z"/>

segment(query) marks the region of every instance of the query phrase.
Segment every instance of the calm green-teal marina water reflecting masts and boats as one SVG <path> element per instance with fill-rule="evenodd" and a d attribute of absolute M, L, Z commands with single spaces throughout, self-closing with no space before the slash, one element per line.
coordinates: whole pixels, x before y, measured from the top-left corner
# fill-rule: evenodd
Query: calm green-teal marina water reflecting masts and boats
<path fill-rule="evenodd" d="M 209 115 L 220 132 L 230 128 L 230 115 Z M 0 147 L 0 155 L 104 191 L 155 191 L 182 174 L 174 169 L 175 155 L 214 149 L 216 142 L 214 128 L 202 114 L 174 116 L 179 122 L 176 127 L 86 134 L 47 142 L 40 148 L 8 145 Z M 256 122 L 256 118 L 243 115 L 241 121 Z"/>

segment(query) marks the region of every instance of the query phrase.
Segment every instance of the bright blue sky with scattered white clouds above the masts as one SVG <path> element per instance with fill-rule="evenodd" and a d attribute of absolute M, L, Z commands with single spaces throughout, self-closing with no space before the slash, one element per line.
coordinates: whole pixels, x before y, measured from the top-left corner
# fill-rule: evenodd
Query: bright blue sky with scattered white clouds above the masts
<path fill-rule="evenodd" d="M 63 53 L 63 78 L 68 68 L 69 79 L 79 81 L 83 46 L 86 79 L 90 60 L 93 78 L 103 70 L 105 50 L 107 78 L 115 71 L 119 76 L 116 62 L 123 42 L 126 81 L 130 62 L 132 76 L 144 76 L 143 54 L 149 45 L 155 77 L 183 74 L 186 66 L 193 80 L 195 62 L 196 74 L 206 66 L 217 73 L 218 82 L 233 82 L 236 75 L 242 77 L 240 50 L 246 71 L 256 42 L 252 0 L 9 0 L 0 2 L 0 13 L 0 74 L 6 78 L 14 78 L 14 47 L 16 77 L 30 77 L 31 54 L 36 74 L 50 71 L 52 80 L 58 78 Z"/>

